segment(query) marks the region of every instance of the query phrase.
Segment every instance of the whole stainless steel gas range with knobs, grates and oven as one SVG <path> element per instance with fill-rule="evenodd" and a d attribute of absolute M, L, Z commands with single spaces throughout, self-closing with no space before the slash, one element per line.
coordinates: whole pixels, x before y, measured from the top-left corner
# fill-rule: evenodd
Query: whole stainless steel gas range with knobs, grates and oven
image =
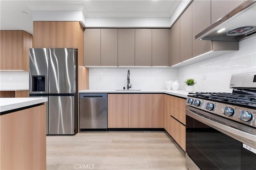
<path fill-rule="evenodd" d="M 256 72 L 233 74 L 230 88 L 232 93 L 188 94 L 188 169 L 256 167 Z"/>

